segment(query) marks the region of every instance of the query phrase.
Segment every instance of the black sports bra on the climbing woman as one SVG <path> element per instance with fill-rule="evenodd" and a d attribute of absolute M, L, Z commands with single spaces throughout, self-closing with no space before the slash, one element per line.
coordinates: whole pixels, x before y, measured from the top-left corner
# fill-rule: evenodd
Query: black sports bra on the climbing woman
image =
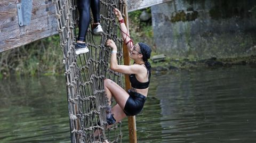
<path fill-rule="evenodd" d="M 129 79 L 130 79 L 130 82 L 131 82 L 131 85 L 132 85 L 133 88 L 146 89 L 146 88 L 149 87 L 151 73 L 148 71 L 147 67 L 146 67 L 146 69 L 147 69 L 147 75 L 148 75 L 148 81 L 147 82 L 138 81 L 137 78 L 135 77 L 135 74 L 130 74 L 129 75 Z"/>

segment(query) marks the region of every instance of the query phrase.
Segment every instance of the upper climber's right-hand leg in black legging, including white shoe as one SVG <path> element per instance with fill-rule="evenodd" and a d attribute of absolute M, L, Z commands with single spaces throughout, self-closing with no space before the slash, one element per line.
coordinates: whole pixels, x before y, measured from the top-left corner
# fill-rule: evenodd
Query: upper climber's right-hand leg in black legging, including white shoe
<path fill-rule="evenodd" d="M 100 0 L 92 0 L 91 9 L 93 15 L 92 33 L 94 35 L 100 35 L 103 32 L 100 25 Z"/>

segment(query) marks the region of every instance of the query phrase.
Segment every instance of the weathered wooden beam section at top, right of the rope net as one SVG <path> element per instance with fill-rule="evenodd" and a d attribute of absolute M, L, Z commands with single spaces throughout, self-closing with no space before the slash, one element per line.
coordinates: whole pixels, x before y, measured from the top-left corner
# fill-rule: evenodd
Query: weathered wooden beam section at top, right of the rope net
<path fill-rule="evenodd" d="M 145 9 L 147 7 L 170 2 L 173 0 L 127 0 L 128 12 Z"/>

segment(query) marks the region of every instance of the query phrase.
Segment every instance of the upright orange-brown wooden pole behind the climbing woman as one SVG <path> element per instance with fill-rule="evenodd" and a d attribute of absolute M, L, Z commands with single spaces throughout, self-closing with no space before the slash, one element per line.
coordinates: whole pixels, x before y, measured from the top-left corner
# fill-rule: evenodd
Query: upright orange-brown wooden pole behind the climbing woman
<path fill-rule="evenodd" d="M 129 20 L 128 20 L 128 11 L 127 11 L 127 3 L 125 1 L 125 8 L 124 8 L 125 18 L 124 23 L 127 28 L 127 31 L 129 31 Z M 130 56 L 129 52 L 127 50 L 127 46 L 123 44 L 123 54 L 124 54 L 124 65 L 130 65 Z M 125 74 L 125 89 L 126 91 L 131 88 L 129 75 Z M 137 132 L 136 132 L 136 119 L 135 116 L 128 116 L 128 127 L 129 127 L 129 139 L 130 143 L 137 143 Z"/>

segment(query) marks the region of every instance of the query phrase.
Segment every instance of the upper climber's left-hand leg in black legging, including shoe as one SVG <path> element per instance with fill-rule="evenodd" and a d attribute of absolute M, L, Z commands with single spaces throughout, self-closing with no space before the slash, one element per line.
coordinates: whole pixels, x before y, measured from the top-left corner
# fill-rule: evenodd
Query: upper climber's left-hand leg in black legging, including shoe
<path fill-rule="evenodd" d="M 75 44 L 77 55 L 89 52 L 89 49 L 85 44 L 85 36 L 90 24 L 90 4 L 90 0 L 78 0 L 77 6 L 79 11 L 79 32 Z"/>

